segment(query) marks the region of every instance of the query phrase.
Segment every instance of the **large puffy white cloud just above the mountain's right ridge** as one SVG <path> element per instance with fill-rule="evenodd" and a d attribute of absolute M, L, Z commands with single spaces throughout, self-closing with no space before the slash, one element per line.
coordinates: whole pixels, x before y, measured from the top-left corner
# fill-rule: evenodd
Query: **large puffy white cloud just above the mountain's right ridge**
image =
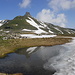
<path fill-rule="evenodd" d="M 67 22 L 64 14 L 55 14 L 50 9 L 43 9 L 37 14 L 37 18 L 41 21 L 59 25 L 61 27 L 65 27 Z"/>

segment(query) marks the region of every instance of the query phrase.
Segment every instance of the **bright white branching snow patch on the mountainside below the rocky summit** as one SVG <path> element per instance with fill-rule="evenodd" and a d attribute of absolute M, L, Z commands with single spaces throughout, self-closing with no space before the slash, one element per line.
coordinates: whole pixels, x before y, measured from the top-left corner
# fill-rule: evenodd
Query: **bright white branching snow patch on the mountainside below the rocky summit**
<path fill-rule="evenodd" d="M 44 24 L 44 22 L 40 21 L 40 25 L 38 25 L 38 24 L 37 24 L 32 18 L 30 18 L 30 17 L 28 17 L 28 19 L 26 19 L 26 21 L 27 21 L 30 25 L 32 25 L 33 27 L 37 28 L 37 30 L 23 29 L 22 31 L 32 31 L 32 32 L 34 32 L 34 33 L 36 33 L 36 34 L 48 33 L 48 32 L 46 32 L 46 31 L 44 31 L 44 30 L 41 29 L 41 28 L 47 27 L 47 25 Z M 54 32 L 52 32 L 52 31 L 50 30 L 49 27 L 47 27 L 47 28 L 49 29 L 49 32 L 50 32 L 50 33 L 54 33 Z"/>

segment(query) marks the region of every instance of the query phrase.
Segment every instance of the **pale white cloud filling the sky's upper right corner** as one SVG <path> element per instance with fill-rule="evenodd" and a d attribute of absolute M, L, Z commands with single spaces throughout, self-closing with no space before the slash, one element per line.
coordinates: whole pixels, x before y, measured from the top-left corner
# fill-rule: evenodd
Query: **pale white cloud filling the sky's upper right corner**
<path fill-rule="evenodd" d="M 75 8 L 75 0 L 50 0 L 48 4 L 51 8 L 56 10 L 67 10 Z"/>

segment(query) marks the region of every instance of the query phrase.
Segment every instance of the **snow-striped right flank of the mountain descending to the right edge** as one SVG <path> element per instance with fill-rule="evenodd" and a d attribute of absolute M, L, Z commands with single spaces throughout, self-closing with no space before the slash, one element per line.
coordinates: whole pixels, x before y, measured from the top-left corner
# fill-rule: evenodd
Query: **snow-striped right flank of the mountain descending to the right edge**
<path fill-rule="evenodd" d="M 50 33 L 50 34 L 75 34 L 75 30 L 55 26 L 50 23 L 38 21 L 37 19 L 35 21 L 34 18 L 31 16 L 28 16 L 28 18 L 26 19 L 26 22 L 29 23 L 30 25 L 32 25 L 33 27 L 35 27 L 37 30 L 23 29 L 22 31 L 29 31 L 29 32 L 33 32 L 36 34 L 41 34 L 41 33 L 45 33 L 45 34 L 48 34 L 48 33 Z"/>

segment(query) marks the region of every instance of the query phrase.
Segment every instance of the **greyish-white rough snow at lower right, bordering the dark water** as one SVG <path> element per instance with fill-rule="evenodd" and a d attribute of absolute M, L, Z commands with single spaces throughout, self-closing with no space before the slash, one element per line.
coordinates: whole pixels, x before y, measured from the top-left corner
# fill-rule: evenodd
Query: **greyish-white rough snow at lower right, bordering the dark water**
<path fill-rule="evenodd" d="M 71 43 L 62 45 L 66 50 L 60 51 L 58 56 L 51 58 L 48 63 L 50 67 L 56 70 L 53 75 L 75 75 L 75 38 Z"/>

